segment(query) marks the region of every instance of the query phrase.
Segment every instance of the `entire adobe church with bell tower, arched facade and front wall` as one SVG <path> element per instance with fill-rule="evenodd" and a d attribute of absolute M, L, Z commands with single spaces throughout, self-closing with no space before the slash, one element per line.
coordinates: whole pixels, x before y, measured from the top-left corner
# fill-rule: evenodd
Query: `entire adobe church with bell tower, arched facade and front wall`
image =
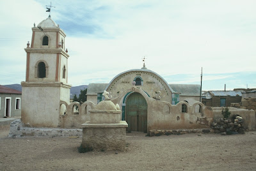
<path fill-rule="evenodd" d="M 127 131 L 209 128 L 221 114 L 200 102 L 200 85 L 168 84 L 145 63 L 117 74 L 108 84 L 89 84 L 87 101 L 70 103 L 65 37 L 51 16 L 32 27 L 31 44 L 25 48 L 26 81 L 21 82 L 23 126 L 81 128 L 90 121 L 90 110 L 104 100 L 104 91 L 122 111 Z"/>

